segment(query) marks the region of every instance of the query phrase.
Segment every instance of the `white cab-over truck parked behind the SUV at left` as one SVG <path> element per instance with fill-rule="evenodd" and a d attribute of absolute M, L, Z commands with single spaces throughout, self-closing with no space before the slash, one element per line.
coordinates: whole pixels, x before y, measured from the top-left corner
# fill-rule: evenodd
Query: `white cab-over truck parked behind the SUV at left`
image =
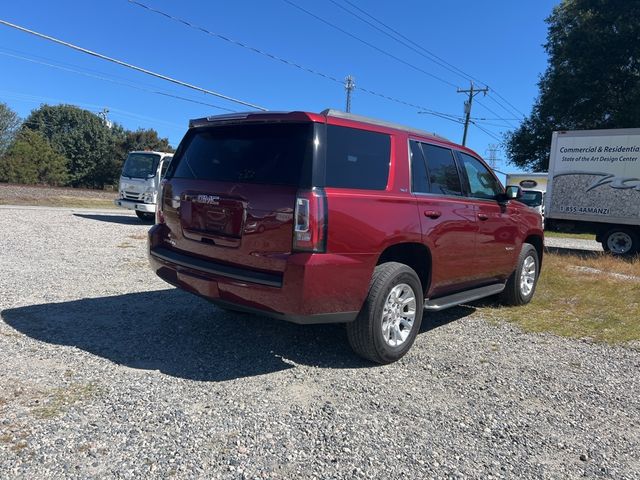
<path fill-rule="evenodd" d="M 114 203 L 118 207 L 135 210 L 138 218 L 153 221 L 160 180 L 169 167 L 172 153 L 129 152 L 120 174 L 119 195 Z"/>

